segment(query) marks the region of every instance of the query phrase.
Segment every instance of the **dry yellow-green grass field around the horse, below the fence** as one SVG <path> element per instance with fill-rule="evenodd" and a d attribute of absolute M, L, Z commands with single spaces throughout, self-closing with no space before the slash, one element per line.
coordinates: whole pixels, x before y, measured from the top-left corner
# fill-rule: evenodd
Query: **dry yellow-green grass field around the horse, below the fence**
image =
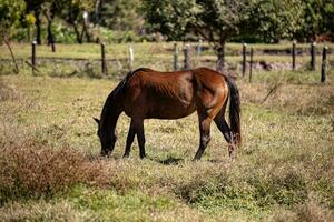
<path fill-rule="evenodd" d="M 239 78 L 243 145 L 233 163 L 215 125 L 203 160 L 191 161 L 196 114 L 147 120 L 146 160 L 137 142 L 121 159 L 122 114 L 112 157 L 101 159 L 92 117 L 125 74 L 1 73 L 0 221 L 334 220 L 332 68 L 324 84 L 318 70 Z"/>

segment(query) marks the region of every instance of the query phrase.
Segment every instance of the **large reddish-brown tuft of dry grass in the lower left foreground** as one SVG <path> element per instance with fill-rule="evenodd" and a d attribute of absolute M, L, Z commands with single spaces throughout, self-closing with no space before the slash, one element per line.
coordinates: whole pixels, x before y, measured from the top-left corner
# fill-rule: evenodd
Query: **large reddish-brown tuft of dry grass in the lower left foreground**
<path fill-rule="evenodd" d="M 11 144 L 0 154 L 0 204 L 18 198 L 52 196 L 77 183 L 106 185 L 108 171 L 69 148 Z"/>

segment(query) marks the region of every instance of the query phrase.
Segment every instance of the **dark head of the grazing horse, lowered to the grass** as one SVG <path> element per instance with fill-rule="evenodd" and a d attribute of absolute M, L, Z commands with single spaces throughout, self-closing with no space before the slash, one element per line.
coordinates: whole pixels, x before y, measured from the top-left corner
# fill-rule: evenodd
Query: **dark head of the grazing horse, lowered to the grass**
<path fill-rule="evenodd" d="M 98 123 L 97 134 L 101 142 L 101 155 L 109 157 L 115 148 L 117 137 L 115 133 L 108 133 L 107 130 L 102 129 L 99 119 L 94 118 L 94 120 Z"/>

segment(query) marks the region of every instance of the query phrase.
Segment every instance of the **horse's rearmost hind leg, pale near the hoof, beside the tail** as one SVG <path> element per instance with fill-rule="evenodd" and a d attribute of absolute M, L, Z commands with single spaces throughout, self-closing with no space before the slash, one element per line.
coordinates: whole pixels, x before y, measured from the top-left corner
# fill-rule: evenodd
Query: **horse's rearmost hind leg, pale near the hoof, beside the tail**
<path fill-rule="evenodd" d="M 225 140 L 228 143 L 228 154 L 229 158 L 235 159 L 236 152 L 235 148 L 236 145 L 233 143 L 233 137 L 230 129 L 225 120 L 224 112 L 219 112 L 215 118 L 215 123 L 218 127 L 219 131 L 223 133 Z"/>

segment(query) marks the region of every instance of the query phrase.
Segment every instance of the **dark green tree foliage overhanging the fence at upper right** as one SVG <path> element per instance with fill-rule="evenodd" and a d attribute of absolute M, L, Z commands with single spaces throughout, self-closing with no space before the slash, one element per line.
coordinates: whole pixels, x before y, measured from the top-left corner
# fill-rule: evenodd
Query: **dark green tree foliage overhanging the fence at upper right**
<path fill-rule="evenodd" d="M 207 41 L 261 38 L 264 42 L 333 33 L 333 1 L 149 1 L 141 10 L 146 21 L 169 39 L 195 32 Z"/>

